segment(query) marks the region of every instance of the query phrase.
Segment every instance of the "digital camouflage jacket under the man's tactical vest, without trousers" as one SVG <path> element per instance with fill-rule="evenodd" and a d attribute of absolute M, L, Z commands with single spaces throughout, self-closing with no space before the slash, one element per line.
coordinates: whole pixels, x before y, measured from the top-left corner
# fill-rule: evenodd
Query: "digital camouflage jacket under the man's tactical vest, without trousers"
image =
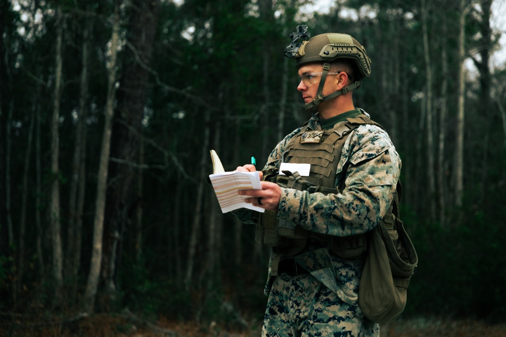
<path fill-rule="evenodd" d="M 342 114 L 355 117 L 363 111 Z M 321 130 L 319 116 L 307 123 L 308 130 Z M 301 128 L 288 134 L 271 152 L 264 171 L 279 168 L 285 146 Z M 277 217 L 304 229 L 327 235 L 349 236 L 370 231 L 386 214 L 396 188 L 401 170 L 401 160 L 389 135 L 374 125 L 361 125 L 350 133 L 345 141 L 336 171 L 335 194 L 323 195 L 308 191 L 282 188 Z M 338 186 L 344 186 L 341 192 Z M 239 220 L 255 223 L 256 212 L 234 212 Z M 275 258 L 271 253 L 271 262 Z M 320 282 L 346 303 L 358 304 L 358 285 L 365 254 L 344 259 L 321 245 L 309 245 L 296 262 L 308 270 Z M 272 284 L 271 263 L 265 294 Z"/>

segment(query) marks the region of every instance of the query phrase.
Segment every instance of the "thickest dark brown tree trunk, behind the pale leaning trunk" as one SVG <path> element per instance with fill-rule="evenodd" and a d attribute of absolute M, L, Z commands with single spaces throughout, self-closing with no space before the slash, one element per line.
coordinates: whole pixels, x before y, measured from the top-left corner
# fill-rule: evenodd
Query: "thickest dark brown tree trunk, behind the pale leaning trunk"
<path fill-rule="evenodd" d="M 128 24 L 126 50 L 122 63 L 114 113 L 107 189 L 104 252 L 101 279 L 107 290 L 106 302 L 116 299 L 116 273 L 121 260 L 122 238 L 132 223 L 139 200 L 134 177 L 139 167 L 142 119 L 146 107 L 153 40 L 156 33 L 159 0 L 135 0 Z M 104 304 L 106 304 L 104 302 Z M 105 308 L 107 309 L 107 308 Z"/>

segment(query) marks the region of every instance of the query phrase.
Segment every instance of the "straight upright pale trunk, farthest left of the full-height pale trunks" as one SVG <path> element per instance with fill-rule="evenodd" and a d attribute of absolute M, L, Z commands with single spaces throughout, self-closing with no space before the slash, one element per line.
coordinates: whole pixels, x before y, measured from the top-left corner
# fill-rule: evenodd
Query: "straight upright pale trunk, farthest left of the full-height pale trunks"
<path fill-rule="evenodd" d="M 53 279 L 55 287 L 55 303 L 61 300 L 63 286 L 63 252 L 60 224 L 60 168 L 58 159 L 60 155 L 60 100 L 62 91 L 62 68 L 63 68 L 63 14 L 61 6 L 56 11 L 56 61 L 55 61 L 55 96 L 53 99 L 53 115 L 51 119 L 51 244 L 53 249 Z"/>

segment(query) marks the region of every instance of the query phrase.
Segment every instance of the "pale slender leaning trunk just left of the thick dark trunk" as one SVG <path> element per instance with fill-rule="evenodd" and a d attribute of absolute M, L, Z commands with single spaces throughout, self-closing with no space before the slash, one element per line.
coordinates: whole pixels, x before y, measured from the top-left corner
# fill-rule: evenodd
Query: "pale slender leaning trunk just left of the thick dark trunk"
<path fill-rule="evenodd" d="M 95 306 L 95 297 L 97 295 L 100 267 L 102 264 L 102 236 L 104 229 L 104 211 L 107 189 L 107 167 L 112 133 L 111 121 L 114 113 L 114 95 L 117 69 L 116 57 L 119 38 L 119 24 L 119 1 L 116 0 L 114 4 L 114 22 L 111 34 L 111 57 L 107 64 L 107 101 L 104 111 L 105 120 L 104 131 L 102 135 L 102 150 L 100 153 L 100 164 L 97 175 L 97 197 L 95 206 L 95 220 L 93 223 L 92 259 L 90 264 L 90 274 L 88 275 L 88 283 L 86 285 L 86 293 L 83 300 L 83 310 L 88 313 L 93 312 Z"/>

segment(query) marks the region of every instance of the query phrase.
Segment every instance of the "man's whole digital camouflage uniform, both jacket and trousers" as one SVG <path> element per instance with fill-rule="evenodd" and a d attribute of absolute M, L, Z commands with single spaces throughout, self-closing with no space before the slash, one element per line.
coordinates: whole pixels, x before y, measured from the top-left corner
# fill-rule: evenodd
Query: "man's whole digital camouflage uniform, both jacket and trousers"
<path fill-rule="evenodd" d="M 352 110 L 334 117 L 333 121 L 343 122 L 361 113 L 359 109 Z M 308 121 L 308 129 L 321 130 L 318 114 Z M 264 171 L 279 168 L 288 140 L 300 130 L 294 130 L 278 143 Z M 346 139 L 336 172 L 336 194 L 325 196 L 282 188 L 277 217 L 328 235 L 368 232 L 387 212 L 400 169 L 401 160 L 388 134 L 377 126 L 361 125 Z M 337 192 L 338 186 L 345 188 Z M 252 211 L 241 210 L 235 214 L 243 222 L 255 222 Z M 271 263 L 272 258 L 273 255 Z M 326 246 L 313 243 L 293 258 L 309 274 L 272 276 L 269 265 L 264 336 L 379 335 L 377 324 L 364 318 L 358 307 L 358 285 L 365 254 L 343 259 Z"/>

